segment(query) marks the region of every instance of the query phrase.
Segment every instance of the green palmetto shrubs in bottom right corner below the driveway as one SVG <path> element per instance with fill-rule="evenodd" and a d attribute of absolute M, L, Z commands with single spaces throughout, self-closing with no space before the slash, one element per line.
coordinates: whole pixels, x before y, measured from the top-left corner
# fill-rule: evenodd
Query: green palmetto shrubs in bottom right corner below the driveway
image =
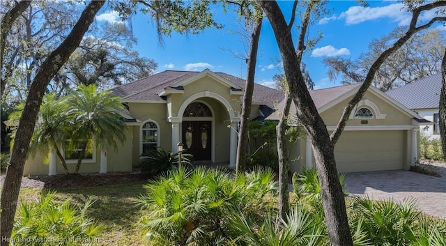
<path fill-rule="evenodd" d="M 446 222 L 417 212 L 415 200 L 396 203 L 353 199 L 351 224 L 362 224 L 362 232 L 373 245 L 445 245 Z"/>

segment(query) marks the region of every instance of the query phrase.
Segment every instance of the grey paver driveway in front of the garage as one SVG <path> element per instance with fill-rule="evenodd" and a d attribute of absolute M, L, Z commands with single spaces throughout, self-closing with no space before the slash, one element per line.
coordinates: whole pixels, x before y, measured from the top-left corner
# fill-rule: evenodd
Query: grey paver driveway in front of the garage
<path fill-rule="evenodd" d="M 366 194 L 373 199 L 417 200 L 420 211 L 446 219 L 446 176 L 433 177 L 413 171 L 378 171 L 346 174 L 351 195 Z"/>

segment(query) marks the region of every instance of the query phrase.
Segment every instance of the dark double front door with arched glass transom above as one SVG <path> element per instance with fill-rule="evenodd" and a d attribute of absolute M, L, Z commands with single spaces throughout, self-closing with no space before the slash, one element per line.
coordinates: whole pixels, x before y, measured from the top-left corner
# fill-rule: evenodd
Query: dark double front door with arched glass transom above
<path fill-rule="evenodd" d="M 187 105 L 183 114 L 182 142 L 185 153 L 194 160 L 212 159 L 212 112 L 202 102 Z"/>

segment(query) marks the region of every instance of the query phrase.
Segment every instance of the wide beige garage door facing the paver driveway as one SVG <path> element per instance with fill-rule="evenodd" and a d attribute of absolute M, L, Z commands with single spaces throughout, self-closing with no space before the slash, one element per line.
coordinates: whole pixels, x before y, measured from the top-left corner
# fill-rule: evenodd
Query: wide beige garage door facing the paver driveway
<path fill-rule="evenodd" d="M 337 170 L 403 169 L 404 131 L 344 131 L 334 147 Z"/>

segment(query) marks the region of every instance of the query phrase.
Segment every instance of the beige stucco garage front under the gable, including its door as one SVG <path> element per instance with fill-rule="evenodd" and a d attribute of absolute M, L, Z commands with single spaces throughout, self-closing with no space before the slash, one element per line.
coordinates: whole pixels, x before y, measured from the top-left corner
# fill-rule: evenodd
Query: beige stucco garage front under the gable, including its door
<path fill-rule="evenodd" d="M 337 125 L 339 117 L 350 99 L 347 98 L 321 113 L 328 128 Z M 364 99 L 374 102 L 380 114 L 386 114 L 386 116 L 384 119 L 366 119 L 367 125 L 362 125 L 361 119 L 348 119 L 347 126 L 356 126 L 356 128 L 355 130 L 344 130 L 335 146 L 334 153 L 338 171 L 409 169 L 412 155 L 412 130 L 406 128 L 412 127 L 412 116 L 401 112 L 400 109 L 373 93 L 367 92 Z M 390 128 L 386 130 L 374 128 L 379 126 Z M 392 126 L 395 127 L 393 130 L 391 130 Z M 331 134 L 331 131 L 329 133 Z M 419 137 L 417 138 L 419 139 Z M 417 142 L 419 143 L 419 141 Z M 300 152 L 301 158 L 293 162 L 291 170 L 300 171 L 306 163 L 305 137 L 300 140 L 300 146 L 296 148 L 295 152 Z M 312 155 L 312 163 L 314 163 L 314 155 Z"/>

